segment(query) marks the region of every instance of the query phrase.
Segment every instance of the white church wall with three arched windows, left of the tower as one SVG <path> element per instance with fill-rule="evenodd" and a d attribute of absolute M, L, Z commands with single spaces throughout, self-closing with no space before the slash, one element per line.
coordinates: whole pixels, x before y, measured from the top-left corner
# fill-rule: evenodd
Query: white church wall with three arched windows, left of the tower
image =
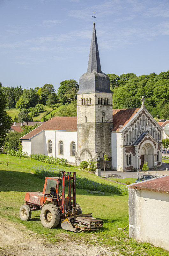
<path fill-rule="evenodd" d="M 52 154 L 48 153 L 48 141 L 52 141 Z M 59 154 L 59 142 L 63 142 L 63 155 Z M 71 156 L 71 143 L 75 142 L 77 151 L 77 132 L 73 131 L 45 131 L 44 154 L 53 157 L 63 157 L 70 163 L 75 163 L 75 156 Z"/>

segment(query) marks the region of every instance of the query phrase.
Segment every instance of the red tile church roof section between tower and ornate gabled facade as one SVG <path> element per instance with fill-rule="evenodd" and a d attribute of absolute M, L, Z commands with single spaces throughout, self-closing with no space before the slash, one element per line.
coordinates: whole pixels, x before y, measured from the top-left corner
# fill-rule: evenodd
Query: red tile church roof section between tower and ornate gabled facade
<path fill-rule="evenodd" d="M 113 129 L 119 131 L 119 125 L 125 126 L 140 108 L 113 109 Z"/>

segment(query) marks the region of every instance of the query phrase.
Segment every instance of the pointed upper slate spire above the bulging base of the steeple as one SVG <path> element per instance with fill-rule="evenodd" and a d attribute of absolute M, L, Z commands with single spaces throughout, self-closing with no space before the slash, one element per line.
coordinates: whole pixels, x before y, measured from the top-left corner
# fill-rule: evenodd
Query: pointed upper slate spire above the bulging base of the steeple
<path fill-rule="evenodd" d="M 97 73 L 101 73 L 101 65 L 100 65 L 100 58 L 99 58 L 99 49 L 98 49 L 98 44 L 97 44 L 95 22 L 93 22 L 93 33 L 92 33 L 92 41 L 91 41 L 91 46 L 90 46 L 90 54 L 89 54 L 87 73 L 91 73 L 93 70 L 95 70 Z"/>

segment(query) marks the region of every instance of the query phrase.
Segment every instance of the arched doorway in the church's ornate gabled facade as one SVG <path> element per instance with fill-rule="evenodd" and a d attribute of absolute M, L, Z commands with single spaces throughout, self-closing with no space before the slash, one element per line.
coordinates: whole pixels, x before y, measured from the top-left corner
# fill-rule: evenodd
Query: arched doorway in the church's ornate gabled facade
<path fill-rule="evenodd" d="M 155 163 L 155 155 L 154 155 L 154 147 L 151 143 L 145 143 L 140 148 L 140 169 L 143 168 L 144 162 L 147 162 L 149 168 L 154 167 Z"/>

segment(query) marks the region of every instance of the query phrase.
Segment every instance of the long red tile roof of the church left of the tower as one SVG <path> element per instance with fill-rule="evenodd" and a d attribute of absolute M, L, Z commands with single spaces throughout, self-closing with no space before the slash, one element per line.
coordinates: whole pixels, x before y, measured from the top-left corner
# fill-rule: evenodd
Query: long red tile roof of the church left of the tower
<path fill-rule="evenodd" d="M 54 116 L 21 139 L 28 140 L 43 130 L 77 131 L 77 116 Z"/>

